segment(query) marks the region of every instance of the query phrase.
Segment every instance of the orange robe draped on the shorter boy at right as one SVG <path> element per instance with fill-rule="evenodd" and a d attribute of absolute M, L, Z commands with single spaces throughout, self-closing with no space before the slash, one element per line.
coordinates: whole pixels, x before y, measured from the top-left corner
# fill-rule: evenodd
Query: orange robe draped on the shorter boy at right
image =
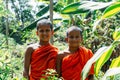
<path fill-rule="evenodd" d="M 62 77 L 65 80 L 81 80 L 81 71 L 92 56 L 92 52 L 84 47 L 80 47 L 75 53 L 65 56 L 62 60 Z M 89 74 L 94 74 L 93 66 Z"/>

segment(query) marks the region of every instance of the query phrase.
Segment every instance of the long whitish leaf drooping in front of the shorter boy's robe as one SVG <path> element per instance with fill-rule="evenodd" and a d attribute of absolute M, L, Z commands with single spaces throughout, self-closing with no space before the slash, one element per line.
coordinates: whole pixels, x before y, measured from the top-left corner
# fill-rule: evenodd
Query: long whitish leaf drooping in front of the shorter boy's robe
<path fill-rule="evenodd" d="M 92 66 L 92 64 L 94 63 L 94 62 L 96 62 L 96 60 L 98 60 L 100 57 L 101 57 L 101 55 L 106 51 L 106 49 L 108 49 L 109 47 L 101 47 L 94 55 L 93 55 L 93 57 L 90 59 L 90 60 L 88 60 L 88 62 L 85 64 L 85 66 L 84 66 L 84 68 L 83 68 L 83 70 L 82 70 L 82 80 L 85 80 L 85 78 L 87 77 L 87 75 L 88 75 L 88 72 L 89 72 L 89 70 L 90 70 L 90 68 L 91 68 L 91 66 Z"/>

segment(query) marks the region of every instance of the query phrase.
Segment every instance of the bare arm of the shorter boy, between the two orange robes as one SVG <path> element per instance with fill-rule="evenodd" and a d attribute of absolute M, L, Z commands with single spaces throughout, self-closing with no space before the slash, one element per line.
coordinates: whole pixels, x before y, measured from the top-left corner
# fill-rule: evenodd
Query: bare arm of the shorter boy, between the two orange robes
<path fill-rule="evenodd" d="M 57 55 L 57 60 L 56 60 L 56 71 L 58 74 L 58 77 L 61 77 L 61 65 L 62 65 L 62 55 L 58 54 Z"/>

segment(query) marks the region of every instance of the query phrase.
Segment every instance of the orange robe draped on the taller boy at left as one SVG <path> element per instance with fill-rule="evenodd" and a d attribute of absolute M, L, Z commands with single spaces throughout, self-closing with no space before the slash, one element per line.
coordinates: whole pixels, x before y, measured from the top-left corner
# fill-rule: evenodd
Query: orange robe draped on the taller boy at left
<path fill-rule="evenodd" d="M 37 48 L 31 57 L 30 80 L 40 80 L 44 70 L 55 69 L 58 49 L 48 44 Z"/>

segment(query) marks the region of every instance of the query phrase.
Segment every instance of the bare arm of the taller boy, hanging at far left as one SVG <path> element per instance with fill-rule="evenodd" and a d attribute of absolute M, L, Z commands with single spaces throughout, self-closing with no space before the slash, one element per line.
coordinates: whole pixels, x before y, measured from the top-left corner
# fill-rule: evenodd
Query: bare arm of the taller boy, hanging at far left
<path fill-rule="evenodd" d="M 31 60 L 31 54 L 33 52 L 32 47 L 28 47 L 26 52 L 25 52 L 25 57 L 24 57 L 24 71 L 23 71 L 23 76 L 25 78 L 29 79 L 29 66 L 30 66 L 30 60 Z"/>

